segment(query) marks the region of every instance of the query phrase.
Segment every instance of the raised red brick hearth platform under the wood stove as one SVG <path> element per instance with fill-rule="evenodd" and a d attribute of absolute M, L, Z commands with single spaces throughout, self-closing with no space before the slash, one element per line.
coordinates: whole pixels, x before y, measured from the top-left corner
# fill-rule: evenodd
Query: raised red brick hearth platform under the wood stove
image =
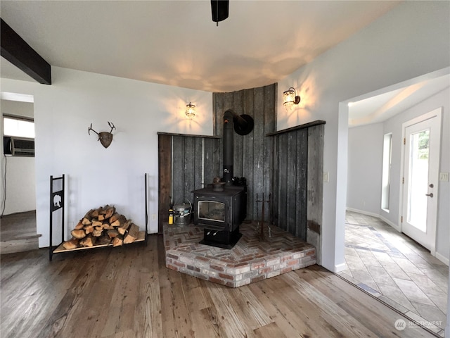
<path fill-rule="evenodd" d="M 265 227 L 266 229 L 266 227 Z M 164 225 L 166 266 L 203 280 L 240 287 L 252 282 L 305 268 L 316 263 L 316 249 L 292 234 L 271 226 L 264 242 L 257 225 L 240 225 L 243 236 L 233 249 L 199 244 L 203 228 Z"/>

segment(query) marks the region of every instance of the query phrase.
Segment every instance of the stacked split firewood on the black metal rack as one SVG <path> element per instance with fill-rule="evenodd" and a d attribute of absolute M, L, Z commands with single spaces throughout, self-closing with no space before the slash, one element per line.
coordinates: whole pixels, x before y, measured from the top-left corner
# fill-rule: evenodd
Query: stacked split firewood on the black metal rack
<path fill-rule="evenodd" d="M 138 238 L 139 227 L 117 213 L 114 206 L 106 205 L 88 211 L 70 234 L 72 239 L 63 242 L 68 250 L 111 243 L 120 246 L 133 243 Z"/>

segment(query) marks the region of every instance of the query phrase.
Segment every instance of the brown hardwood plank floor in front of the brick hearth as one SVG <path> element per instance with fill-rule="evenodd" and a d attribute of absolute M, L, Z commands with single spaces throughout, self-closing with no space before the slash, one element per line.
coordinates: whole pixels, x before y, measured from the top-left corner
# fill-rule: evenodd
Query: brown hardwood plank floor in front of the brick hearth
<path fill-rule="evenodd" d="M 434 337 L 318 265 L 232 289 L 165 268 L 163 247 L 2 255 L 0 336 Z"/>

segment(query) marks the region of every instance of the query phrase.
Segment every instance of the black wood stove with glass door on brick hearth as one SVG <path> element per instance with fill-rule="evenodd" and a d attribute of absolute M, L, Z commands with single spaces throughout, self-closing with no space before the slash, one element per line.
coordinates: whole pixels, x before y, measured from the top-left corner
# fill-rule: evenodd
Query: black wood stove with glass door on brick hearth
<path fill-rule="evenodd" d="M 217 192 L 210 185 L 193 194 L 194 224 L 204 227 L 200 244 L 233 248 L 241 237 L 239 225 L 247 216 L 247 187 L 229 185 Z"/>

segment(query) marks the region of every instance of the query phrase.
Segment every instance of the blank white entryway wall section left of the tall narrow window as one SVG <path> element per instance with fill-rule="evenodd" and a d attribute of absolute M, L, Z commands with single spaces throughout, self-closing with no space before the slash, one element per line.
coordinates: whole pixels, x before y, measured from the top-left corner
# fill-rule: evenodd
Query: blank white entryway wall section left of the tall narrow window
<path fill-rule="evenodd" d="M 382 163 L 383 123 L 349 128 L 347 208 L 380 213 Z"/>

